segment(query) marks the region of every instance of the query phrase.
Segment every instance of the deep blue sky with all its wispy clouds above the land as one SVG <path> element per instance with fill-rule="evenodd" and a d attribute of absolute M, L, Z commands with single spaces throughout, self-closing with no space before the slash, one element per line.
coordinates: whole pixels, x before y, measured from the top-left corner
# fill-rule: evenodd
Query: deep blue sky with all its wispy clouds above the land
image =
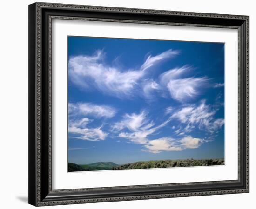
<path fill-rule="evenodd" d="M 68 162 L 224 158 L 224 44 L 68 37 Z"/>

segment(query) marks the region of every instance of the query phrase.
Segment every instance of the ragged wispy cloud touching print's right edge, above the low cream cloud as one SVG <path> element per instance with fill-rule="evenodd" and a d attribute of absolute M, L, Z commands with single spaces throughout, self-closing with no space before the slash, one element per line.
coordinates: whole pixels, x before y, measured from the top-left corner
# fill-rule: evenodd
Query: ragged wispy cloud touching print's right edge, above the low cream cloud
<path fill-rule="evenodd" d="M 214 119 L 213 116 L 216 114 L 217 109 L 213 109 L 205 102 L 205 100 L 202 100 L 199 105 L 192 104 L 182 107 L 180 110 L 175 111 L 171 118 L 178 119 L 181 123 L 186 124 L 183 130 L 186 133 L 191 132 L 195 127 L 213 133 L 222 127 L 224 119 Z M 177 133 L 179 132 L 180 130 L 177 131 Z"/>

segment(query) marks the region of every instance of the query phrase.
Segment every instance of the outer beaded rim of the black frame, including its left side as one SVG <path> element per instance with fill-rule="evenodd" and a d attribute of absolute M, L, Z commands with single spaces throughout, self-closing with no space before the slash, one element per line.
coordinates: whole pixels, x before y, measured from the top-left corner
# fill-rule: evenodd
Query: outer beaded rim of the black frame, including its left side
<path fill-rule="evenodd" d="M 148 13 L 148 14 L 167 14 L 178 16 L 197 16 L 197 17 L 215 17 L 225 19 L 244 20 L 246 23 L 246 50 L 244 57 L 246 58 L 246 187 L 245 189 L 218 190 L 207 192 L 191 192 L 191 193 L 175 193 L 163 195 L 147 195 L 147 196 L 126 196 L 116 198 L 96 198 L 82 200 L 63 200 L 63 201 L 43 201 L 41 200 L 40 187 L 40 169 L 41 169 L 41 8 L 64 8 L 75 10 L 89 11 L 112 11 L 116 13 Z M 30 20 L 34 19 L 34 20 Z M 34 148 L 34 149 L 33 149 Z M 204 196 L 217 194 L 233 194 L 249 192 L 249 16 L 227 15 L 227 14 L 209 14 L 209 13 L 191 13 L 191 12 L 175 12 L 149 9 L 135 8 L 119 8 L 119 7 L 97 7 L 85 5 L 55 4 L 36 2 L 29 5 L 29 203 L 34 206 L 46 205 L 63 205 L 90 202 L 112 202 L 127 201 L 139 199 L 153 198 L 169 198 L 182 196 Z"/>

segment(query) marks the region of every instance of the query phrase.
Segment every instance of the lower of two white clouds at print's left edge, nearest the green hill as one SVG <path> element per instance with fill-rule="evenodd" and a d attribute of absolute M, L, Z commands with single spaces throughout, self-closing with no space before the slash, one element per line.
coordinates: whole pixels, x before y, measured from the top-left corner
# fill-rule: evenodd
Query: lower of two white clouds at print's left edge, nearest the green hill
<path fill-rule="evenodd" d="M 82 118 L 78 120 L 69 120 L 68 132 L 74 134 L 73 138 L 88 140 L 88 141 L 100 141 L 105 140 L 108 135 L 102 131 L 102 127 L 88 128 L 88 124 L 93 120 L 89 118 Z"/>

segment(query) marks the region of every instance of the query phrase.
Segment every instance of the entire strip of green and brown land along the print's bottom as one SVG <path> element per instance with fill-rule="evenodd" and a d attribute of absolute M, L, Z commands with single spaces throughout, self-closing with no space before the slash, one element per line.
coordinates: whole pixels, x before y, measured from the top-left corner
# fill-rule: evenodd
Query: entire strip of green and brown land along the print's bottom
<path fill-rule="evenodd" d="M 171 168 L 171 167 L 193 167 L 224 165 L 224 159 L 204 159 L 204 160 L 151 160 L 136 163 L 118 165 L 112 162 L 99 162 L 85 165 L 68 163 L 68 171 L 89 171 L 89 170 L 123 170 L 123 169 L 148 169 L 148 168 Z"/>

